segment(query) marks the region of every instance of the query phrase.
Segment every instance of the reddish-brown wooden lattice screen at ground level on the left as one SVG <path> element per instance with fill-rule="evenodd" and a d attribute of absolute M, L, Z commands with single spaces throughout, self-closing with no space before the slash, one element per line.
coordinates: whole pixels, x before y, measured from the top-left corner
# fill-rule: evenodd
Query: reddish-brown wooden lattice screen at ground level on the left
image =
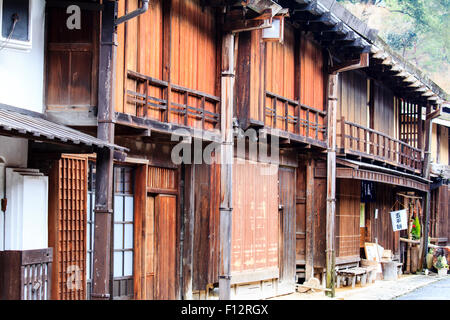
<path fill-rule="evenodd" d="M 86 298 L 87 157 L 63 156 L 50 173 L 52 299 Z"/>

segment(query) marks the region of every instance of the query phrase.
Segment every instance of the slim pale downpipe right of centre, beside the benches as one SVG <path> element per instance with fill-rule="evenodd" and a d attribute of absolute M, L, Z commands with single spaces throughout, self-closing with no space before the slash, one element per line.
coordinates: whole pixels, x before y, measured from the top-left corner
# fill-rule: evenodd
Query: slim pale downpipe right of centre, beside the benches
<path fill-rule="evenodd" d="M 326 222 L 326 294 L 335 295 L 335 260 L 334 224 L 336 211 L 336 114 L 337 114 L 337 85 L 338 74 L 328 76 L 328 149 L 327 149 L 327 222 Z"/>

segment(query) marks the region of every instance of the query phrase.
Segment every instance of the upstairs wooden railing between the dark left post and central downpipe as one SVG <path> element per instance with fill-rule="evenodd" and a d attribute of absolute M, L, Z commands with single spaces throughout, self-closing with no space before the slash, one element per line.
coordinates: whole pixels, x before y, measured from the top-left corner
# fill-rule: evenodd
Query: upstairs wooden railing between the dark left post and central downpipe
<path fill-rule="evenodd" d="M 136 105 L 136 116 L 203 130 L 216 128 L 220 123 L 219 97 L 131 70 L 128 78 L 136 81 L 136 91 L 126 91 L 127 102 Z"/>

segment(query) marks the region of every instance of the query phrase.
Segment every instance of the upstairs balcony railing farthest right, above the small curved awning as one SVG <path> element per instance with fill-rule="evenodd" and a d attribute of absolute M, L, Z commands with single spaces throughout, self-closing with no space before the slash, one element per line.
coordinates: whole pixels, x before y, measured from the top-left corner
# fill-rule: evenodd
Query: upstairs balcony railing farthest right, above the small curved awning
<path fill-rule="evenodd" d="M 397 167 L 422 170 L 422 151 L 382 132 L 346 121 L 340 122 L 340 146 L 345 153 L 380 160 Z"/>

